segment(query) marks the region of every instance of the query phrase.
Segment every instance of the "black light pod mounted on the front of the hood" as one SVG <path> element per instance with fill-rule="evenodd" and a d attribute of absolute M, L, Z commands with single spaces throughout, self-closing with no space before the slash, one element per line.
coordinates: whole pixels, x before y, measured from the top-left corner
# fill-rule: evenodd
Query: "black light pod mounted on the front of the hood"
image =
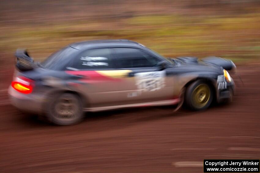
<path fill-rule="evenodd" d="M 210 57 L 201 59 L 201 61 L 215 64 L 217 66 L 221 66 L 225 70 L 235 70 L 236 69 L 236 65 L 230 59 L 224 59 L 224 58 L 219 58 L 219 57 L 215 57 L 215 56 L 210 56 Z"/>

